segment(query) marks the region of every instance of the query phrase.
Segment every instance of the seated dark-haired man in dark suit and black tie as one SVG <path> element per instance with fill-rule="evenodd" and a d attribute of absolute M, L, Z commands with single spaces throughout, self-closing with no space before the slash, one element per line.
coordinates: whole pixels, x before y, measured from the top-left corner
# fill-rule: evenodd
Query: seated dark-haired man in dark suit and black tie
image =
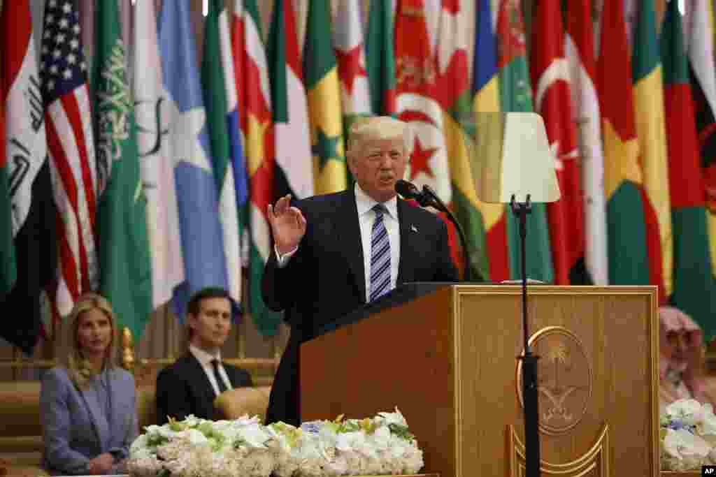
<path fill-rule="evenodd" d="M 193 414 L 214 419 L 213 401 L 226 390 L 251 386 L 246 370 L 221 363 L 231 330 L 231 298 L 223 288 L 205 288 L 187 305 L 189 351 L 157 376 L 157 419 L 167 423 Z"/>

